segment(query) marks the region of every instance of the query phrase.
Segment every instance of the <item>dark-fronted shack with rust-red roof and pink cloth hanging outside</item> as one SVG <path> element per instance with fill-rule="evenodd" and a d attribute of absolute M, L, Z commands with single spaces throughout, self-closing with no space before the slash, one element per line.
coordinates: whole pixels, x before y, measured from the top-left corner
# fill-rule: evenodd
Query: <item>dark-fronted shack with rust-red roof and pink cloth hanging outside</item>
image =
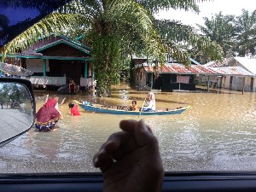
<path fill-rule="evenodd" d="M 148 66 L 147 63 L 137 65 L 134 70 L 137 90 L 195 90 L 195 76 L 198 74 L 217 75 L 218 73 L 210 67 L 195 64 L 187 67 L 172 62 L 166 62 L 158 70 L 154 66 Z"/>

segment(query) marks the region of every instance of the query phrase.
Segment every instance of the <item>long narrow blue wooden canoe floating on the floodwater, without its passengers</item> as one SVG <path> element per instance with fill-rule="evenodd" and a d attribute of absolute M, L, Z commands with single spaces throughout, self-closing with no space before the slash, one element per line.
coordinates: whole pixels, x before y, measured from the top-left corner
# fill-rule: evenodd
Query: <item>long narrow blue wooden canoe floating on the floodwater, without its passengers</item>
<path fill-rule="evenodd" d="M 139 111 L 126 111 L 113 108 L 103 108 L 102 106 L 86 105 L 79 103 L 81 108 L 85 111 L 96 112 L 96 113 L 110 113 L 110 114 L 128 114 L 128 115 L 166 115 L 166 114 L 180 114 L 189 109 L 187 108 L 177 108 L 168 111 L 155 111 L 155 112 L 139 112 Z"/>

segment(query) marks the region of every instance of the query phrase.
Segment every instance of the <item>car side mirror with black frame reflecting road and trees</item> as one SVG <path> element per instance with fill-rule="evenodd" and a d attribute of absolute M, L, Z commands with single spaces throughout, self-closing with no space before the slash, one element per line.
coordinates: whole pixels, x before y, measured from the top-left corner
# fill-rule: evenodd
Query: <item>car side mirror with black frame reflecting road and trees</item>
<path fill-rule="evenodd" d="M 28 131 L 34 124 L 35 114 L 31 82 L 0 78 L 0 147 Z"/>

